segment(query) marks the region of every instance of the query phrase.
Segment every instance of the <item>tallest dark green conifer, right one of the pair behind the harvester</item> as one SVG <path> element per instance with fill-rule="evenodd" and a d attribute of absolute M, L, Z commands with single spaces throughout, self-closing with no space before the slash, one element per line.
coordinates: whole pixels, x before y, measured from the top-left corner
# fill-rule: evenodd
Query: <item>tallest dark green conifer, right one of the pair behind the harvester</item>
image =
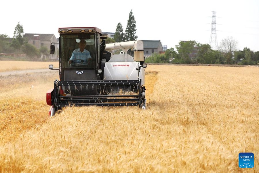
<path fill-rule="evenodd" d="M 129 19 L 125 30 L 125 41 L 133 41 L 137 39 L 138 36 L 136 35 L 136 21 L 131 10 L 129 12 Z"/>

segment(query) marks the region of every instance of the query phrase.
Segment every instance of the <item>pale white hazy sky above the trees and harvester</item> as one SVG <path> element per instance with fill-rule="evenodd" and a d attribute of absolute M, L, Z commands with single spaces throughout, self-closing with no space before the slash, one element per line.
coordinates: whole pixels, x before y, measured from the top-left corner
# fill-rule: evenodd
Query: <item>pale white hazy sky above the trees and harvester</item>
<path fill-rule="evenodd" d="M 56 37 L 59 27 L 98 27 L 102 32 L 115 32 L 121 22 L 125 31 L 130 10 L 138 40 L 161 40 L 167 48 L 175 48 L 180 40 L 209 43 L 212 11 L 216 11 L 218 44 L 232 36 L 238 41 L 238 49 L 259 51 L 258 0 L 4 0 L 0 34 L 13 37 L 18 22 L 24 33 L 54 33 Z"/>

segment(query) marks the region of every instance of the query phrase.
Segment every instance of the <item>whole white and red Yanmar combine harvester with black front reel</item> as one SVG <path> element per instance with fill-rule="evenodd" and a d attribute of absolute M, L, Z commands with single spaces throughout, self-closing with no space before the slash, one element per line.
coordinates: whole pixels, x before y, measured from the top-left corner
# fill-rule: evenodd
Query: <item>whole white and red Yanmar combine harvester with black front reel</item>
<path fill-rule="evenodd" d="M 108 34 L 97 27 L 59 28 L 58 32 L 59 43 L 50 46 L 50 53 L 54 54 L 54 44 L 59 44 L 59 69 L 53 69 L 53 65 L 49 68 L 59 70 L 60 76 L 54 82 L 54 89 L 47 92 L 50 116 L 72 105 L 146 108 L 147 65 L 141 40 L 105 44 Z M 87 51 L 80 47 L 82 44 Z M 111 53 L 117 49 L 122 51 Z M 129 49 L 134 50 L 134 57 L 127 54 Z M 75 51 L 81 57 L 77 58 Z"/>

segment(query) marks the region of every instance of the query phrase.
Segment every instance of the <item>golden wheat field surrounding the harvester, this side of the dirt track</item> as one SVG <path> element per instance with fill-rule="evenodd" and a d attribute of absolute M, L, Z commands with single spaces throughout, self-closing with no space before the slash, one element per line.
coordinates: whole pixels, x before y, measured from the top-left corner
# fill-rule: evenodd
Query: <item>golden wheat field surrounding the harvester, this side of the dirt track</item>
<path fill-rule="evenodd" d="M 58 75 L 34 75 L 2 82 L 0 172 L 259 172 L 258 67 L 148 65 L 146 110 L 69 107 L 51 120 Z M 241 152 L 254 168 L 238 167 Z"/>

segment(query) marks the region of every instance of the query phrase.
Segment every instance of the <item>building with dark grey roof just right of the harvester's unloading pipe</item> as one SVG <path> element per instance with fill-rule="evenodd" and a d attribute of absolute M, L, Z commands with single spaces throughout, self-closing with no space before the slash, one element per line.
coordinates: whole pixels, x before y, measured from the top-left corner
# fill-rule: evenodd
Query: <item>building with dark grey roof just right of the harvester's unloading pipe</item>
<path fill-rule="evenodd" d="M 144 57 L 150 57 L 153 53 L 163 53 L 160 40 L 142 40 L 144 43 Z"/>

